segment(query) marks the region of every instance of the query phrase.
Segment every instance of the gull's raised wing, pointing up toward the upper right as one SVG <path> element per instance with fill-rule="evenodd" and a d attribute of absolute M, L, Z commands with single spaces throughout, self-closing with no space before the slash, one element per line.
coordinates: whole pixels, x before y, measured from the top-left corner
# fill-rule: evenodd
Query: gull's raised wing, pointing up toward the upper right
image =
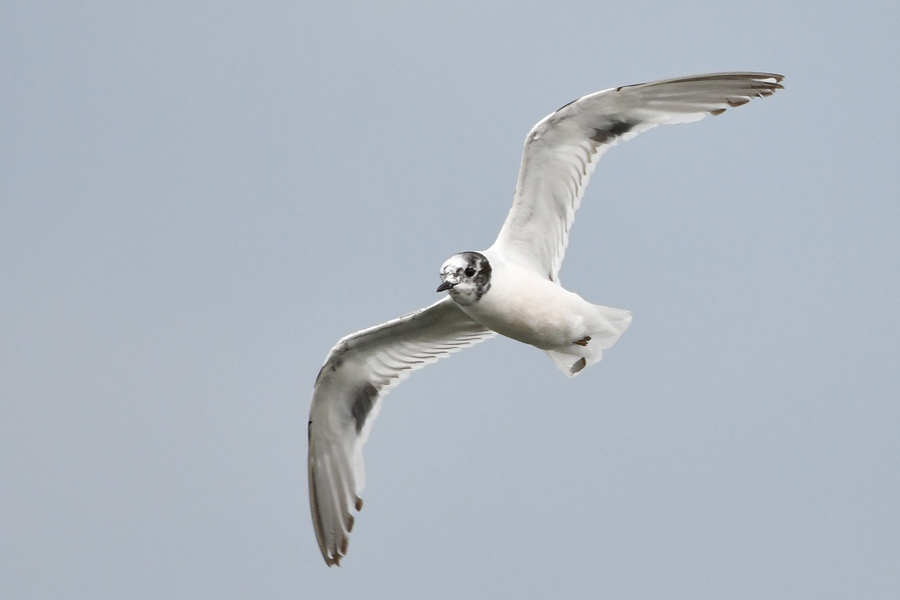
<path fill-rule="evenodd" d="M 597 160 L 661 124 L 718 115 L 782 88 L 773 73 L 713 73 L 596 92 L 541 120 L 525 138 L 512 209 L 492 249 L 558 282 L 569 228 Z"/>

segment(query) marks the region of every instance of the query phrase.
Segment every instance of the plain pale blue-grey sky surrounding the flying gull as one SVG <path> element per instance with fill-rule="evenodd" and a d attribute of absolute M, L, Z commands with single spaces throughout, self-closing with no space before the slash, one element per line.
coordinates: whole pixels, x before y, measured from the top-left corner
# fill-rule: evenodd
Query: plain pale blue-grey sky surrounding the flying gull
<path fill-rule="evenodd" d="M 0 6 L 0 596 L 900 596 L 900 5 L 317 4 Z M 576 220 L 629 331 L 397 388 L 328 569 L 328 350 L 491 244 L 544 115 L 726 70 L 786 89 Z"/>

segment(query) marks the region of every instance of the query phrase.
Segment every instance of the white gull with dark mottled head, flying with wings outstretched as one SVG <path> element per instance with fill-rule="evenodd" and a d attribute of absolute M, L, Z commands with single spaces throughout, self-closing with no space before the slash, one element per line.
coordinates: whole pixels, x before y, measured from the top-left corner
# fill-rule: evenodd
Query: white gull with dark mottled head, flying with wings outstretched
<path fill-rule="evenodd" d="M 328 566 L 347 553 L 362 508 L 362 448 L 384 396 L 410 373 L 505 335 L 545 351 L 566 376 L 598 362 L 631 323 L 628 311 L 590 304 L 562 287 L 569 229 L 597 160 L 618 141 L 663 124 L 719 115 L 782 89 L 774 73 L 711 73 L 611 88 L 538 122 L 512 208 L 487 250 L 440 268 L 440 301 L 350 334 L 319 371 L 309 411 L 309 502 Z"/>

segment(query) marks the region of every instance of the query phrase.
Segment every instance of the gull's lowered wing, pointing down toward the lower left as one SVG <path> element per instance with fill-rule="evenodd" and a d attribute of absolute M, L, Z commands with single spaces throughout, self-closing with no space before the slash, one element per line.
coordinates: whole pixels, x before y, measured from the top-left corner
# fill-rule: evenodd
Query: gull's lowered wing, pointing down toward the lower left
<path fill-rule="evenodd" d="M 309 504 L 328 566 L 347 553 L 351 507 L 362 508 L 362 447 L 381 399 L 410 373 L 496 335 L 450 297 L 348 335 L 332 348 L 309 409 Z"/>

